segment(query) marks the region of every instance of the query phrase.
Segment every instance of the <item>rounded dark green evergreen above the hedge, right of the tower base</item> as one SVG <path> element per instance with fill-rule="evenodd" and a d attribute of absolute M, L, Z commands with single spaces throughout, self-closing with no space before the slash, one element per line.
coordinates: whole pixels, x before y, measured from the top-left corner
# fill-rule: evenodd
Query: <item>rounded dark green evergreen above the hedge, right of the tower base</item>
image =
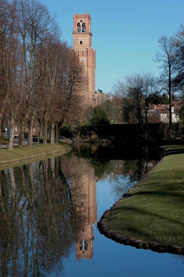
<path fill-rule="evenodd" d="M 107 114 L 103 110 L 101 105 L 97 105 L 94 108 L 94 112 L 91 117 L 90 124 L 92 124 L 92 125 L 109 124 Z"/>

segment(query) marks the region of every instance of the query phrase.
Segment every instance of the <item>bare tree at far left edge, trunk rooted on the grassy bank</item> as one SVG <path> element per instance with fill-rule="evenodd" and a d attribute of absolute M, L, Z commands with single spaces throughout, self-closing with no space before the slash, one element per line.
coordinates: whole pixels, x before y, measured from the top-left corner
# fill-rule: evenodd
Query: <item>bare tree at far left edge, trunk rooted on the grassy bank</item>
<path fill-rule="evenodd" d="M 4 2 L 1 6 L 1 35 L 0 48 L 2 59 L 2 82 L 0 125 L 2 117 L 8 117 L 10 136 L 8 149 L 13 149 L 15 123 L 18 113 L 18 66 L 19 66 L 19 38 L 17 32 L 17 3 Z M 4 18 L 4 21 L 3 21 Z"/>

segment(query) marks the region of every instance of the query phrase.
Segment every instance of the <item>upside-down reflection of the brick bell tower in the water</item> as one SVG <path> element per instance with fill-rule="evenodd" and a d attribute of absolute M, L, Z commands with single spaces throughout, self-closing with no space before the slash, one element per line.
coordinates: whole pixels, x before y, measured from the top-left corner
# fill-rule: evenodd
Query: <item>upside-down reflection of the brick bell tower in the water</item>
<path fill-rule="evenodd" d="M 64 157 L 63 157 L 64 158 Z M 65 160 L 66 164 L 66 160 Z M 70 159 L 71 195 L 76 217 L 76 259 L 93 257 L 94 224 L 97 223 L 96 178 L 85 159 Z"/>

